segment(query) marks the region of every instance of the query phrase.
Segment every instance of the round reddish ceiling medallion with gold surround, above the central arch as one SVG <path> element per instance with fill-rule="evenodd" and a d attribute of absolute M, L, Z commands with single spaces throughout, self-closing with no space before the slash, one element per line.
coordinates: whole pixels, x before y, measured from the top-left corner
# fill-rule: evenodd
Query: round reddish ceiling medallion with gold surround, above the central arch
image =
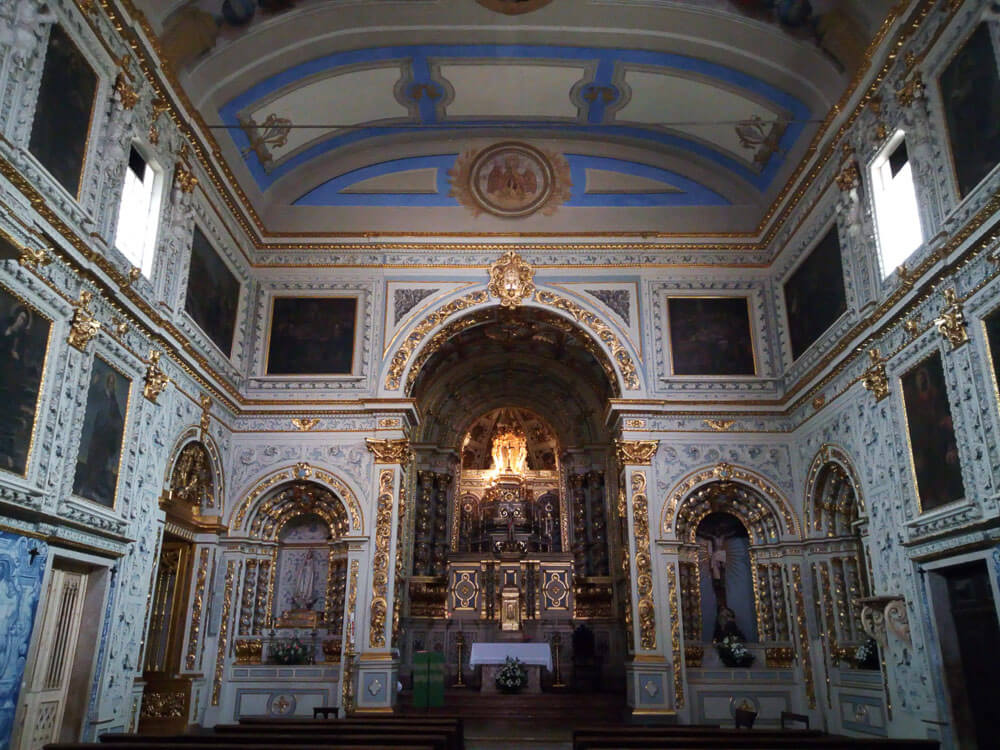
<path fill-rule="evenodd" d="M 483 211 L 505 219 L 537 211 L 551 216 L 572 187 L 569 164 L 561 155 L 515 142 L 467 151 L 448 175 L 450 194 L 474 216 Z"/>

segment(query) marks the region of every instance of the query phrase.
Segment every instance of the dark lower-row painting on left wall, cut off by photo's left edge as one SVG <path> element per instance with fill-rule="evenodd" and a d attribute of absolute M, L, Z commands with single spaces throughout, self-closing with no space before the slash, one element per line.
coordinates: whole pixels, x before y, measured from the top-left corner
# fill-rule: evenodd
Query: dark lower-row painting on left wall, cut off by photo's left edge
<path fill-rule="evenodd" d="M 52 324 L 0 287 L 0 468 L 28 470 Z"/>

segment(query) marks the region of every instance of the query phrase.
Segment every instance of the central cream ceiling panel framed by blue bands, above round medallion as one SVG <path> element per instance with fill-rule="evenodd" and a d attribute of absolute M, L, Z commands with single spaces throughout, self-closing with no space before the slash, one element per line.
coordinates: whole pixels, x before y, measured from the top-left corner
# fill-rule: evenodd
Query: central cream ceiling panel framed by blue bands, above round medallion
<path fill-rule="evenodd" d="M 449 117 L 575 119 L 577 108 L 569 94 L 586 73 L 582 67 L 511 62 L 442 63 L 439 69 L 455 91 Z"/>

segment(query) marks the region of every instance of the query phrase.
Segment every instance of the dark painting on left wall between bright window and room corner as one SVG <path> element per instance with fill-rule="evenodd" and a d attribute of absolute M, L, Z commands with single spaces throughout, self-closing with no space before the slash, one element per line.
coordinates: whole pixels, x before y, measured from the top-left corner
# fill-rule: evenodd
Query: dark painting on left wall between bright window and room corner
<path fill-rule="evenodd" d="M 184 310 L 227 357 L 233 353 L 239 304 L 239 279 L 196 226 Z"/>

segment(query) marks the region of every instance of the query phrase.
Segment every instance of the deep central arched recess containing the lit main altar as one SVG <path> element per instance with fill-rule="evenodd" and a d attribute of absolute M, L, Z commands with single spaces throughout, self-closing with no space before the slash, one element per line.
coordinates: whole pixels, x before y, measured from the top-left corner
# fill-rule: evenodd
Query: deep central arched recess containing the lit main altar
<path fill-rule="evenodd" d="M 561 677 L 578 689 L 623 689 L 608 562 L 617 469 L 604 423 L 614 368 L 545 310 L 480 310 L 454 330 L 410 389 L 421 421 L 403 674 L 431 650 L 446 655 L 449 682 L 475 682 L 473 644 L 530 640 L 558 644 Z"/>

